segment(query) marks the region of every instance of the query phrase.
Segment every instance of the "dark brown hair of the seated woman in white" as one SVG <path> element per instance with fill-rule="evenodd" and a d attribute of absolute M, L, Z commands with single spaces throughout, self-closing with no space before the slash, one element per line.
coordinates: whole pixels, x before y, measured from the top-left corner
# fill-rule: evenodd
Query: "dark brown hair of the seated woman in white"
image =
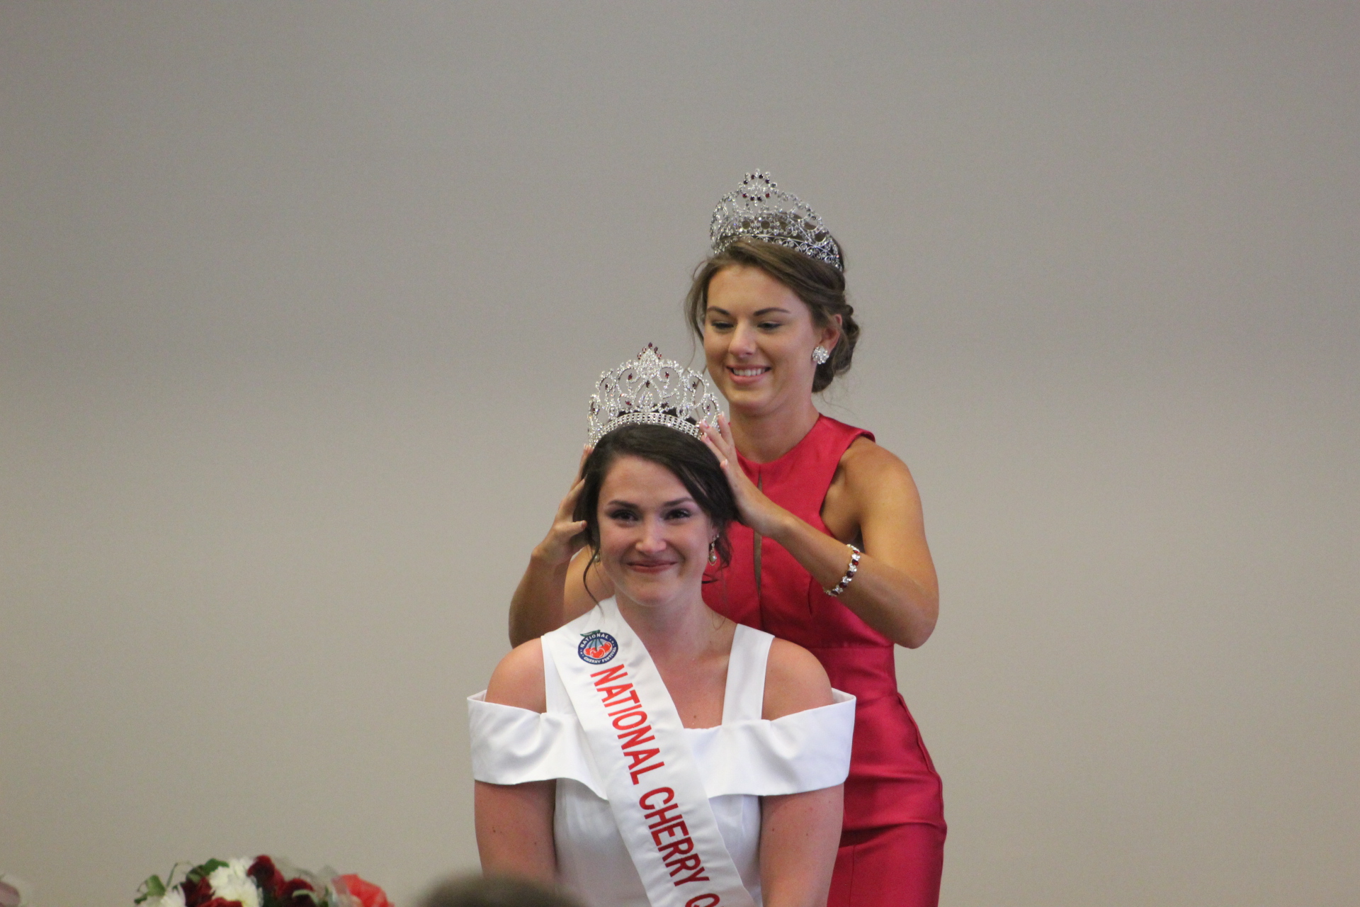
<path fill-rule="evenodd" d="M 615 428 L 596 442 L 594 450 L 586 457 L 581 468 L 581 477 L 586 484 L 581 488 L 571 518 L 586 521 L 586 544 L 592 552 L 600 552 L 600 488 L 619 457 L 647 460 L 679 479 L 718 532 L 714 544 L 718 563 L 724 567 L 732 563 L 728 525 L 737 518 L 732 485 L 728 484 L 718 458 L 702 441 L 666 426 L 635 424 Z"/>

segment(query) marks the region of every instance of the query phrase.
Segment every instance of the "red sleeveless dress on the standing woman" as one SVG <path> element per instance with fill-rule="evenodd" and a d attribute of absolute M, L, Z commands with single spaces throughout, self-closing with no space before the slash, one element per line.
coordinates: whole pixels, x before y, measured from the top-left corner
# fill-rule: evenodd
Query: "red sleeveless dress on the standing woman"
<path fill-rule="evenodd" d="M 821 503 L 842 454 L 861 437 L 873 439 L 821 416 L 785 456 L 764 464 L 740 457 L 741 469 L 777 504 L 827 532 Z M 733 524 L 728 534 L 732 564 L 707 577 L 709 606 L 808 649 L 831 685 L 858 699 L 830 903 L 936 904 L 945 835 L 940 775 L 898 692 L 892 643 L 826 594 L 778 543 L 762 538 L 758 579 L 755 533 Z"/>

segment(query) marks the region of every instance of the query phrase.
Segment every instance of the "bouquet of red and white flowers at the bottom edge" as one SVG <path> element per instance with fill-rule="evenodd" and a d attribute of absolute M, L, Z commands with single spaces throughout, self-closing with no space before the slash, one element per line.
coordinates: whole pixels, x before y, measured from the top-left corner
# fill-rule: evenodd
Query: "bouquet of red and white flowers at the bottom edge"
<path fill-rule="evenodd" d="M 358 876 L 332 870 L 309 873 L 284 868 L 269 857 L 209 859 L 175 883 L 151 876 L 132 902 L 143 907 L 392 907 L 386 893 Z"/>

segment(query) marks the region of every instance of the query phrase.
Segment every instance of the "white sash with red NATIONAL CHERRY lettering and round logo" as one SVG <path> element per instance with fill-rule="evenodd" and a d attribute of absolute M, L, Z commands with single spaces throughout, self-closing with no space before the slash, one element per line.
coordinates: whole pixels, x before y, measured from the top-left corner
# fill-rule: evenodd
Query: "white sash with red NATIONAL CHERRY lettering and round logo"
<path fill-rule="evenodd" d="M 613 598 L 543 638 L 590 741 L 653 907 L 755 907 L 709 806 L 684 725 Z"/>

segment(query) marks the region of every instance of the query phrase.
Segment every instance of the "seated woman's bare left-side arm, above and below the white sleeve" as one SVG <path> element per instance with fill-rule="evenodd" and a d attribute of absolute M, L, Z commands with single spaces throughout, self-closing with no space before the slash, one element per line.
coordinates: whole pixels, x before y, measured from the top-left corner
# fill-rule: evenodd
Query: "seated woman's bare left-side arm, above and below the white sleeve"
<path fill-rule="evenodd" d="M 543 646 L 534 639 L 506 655 L 487 684 L 487 702 L 547 710 Z M 525 785 L 476 782 L 473 815 L 481 870 L 526 876 L 552 885 L 558 872 L 552 839 L 556 782 Z"/>

